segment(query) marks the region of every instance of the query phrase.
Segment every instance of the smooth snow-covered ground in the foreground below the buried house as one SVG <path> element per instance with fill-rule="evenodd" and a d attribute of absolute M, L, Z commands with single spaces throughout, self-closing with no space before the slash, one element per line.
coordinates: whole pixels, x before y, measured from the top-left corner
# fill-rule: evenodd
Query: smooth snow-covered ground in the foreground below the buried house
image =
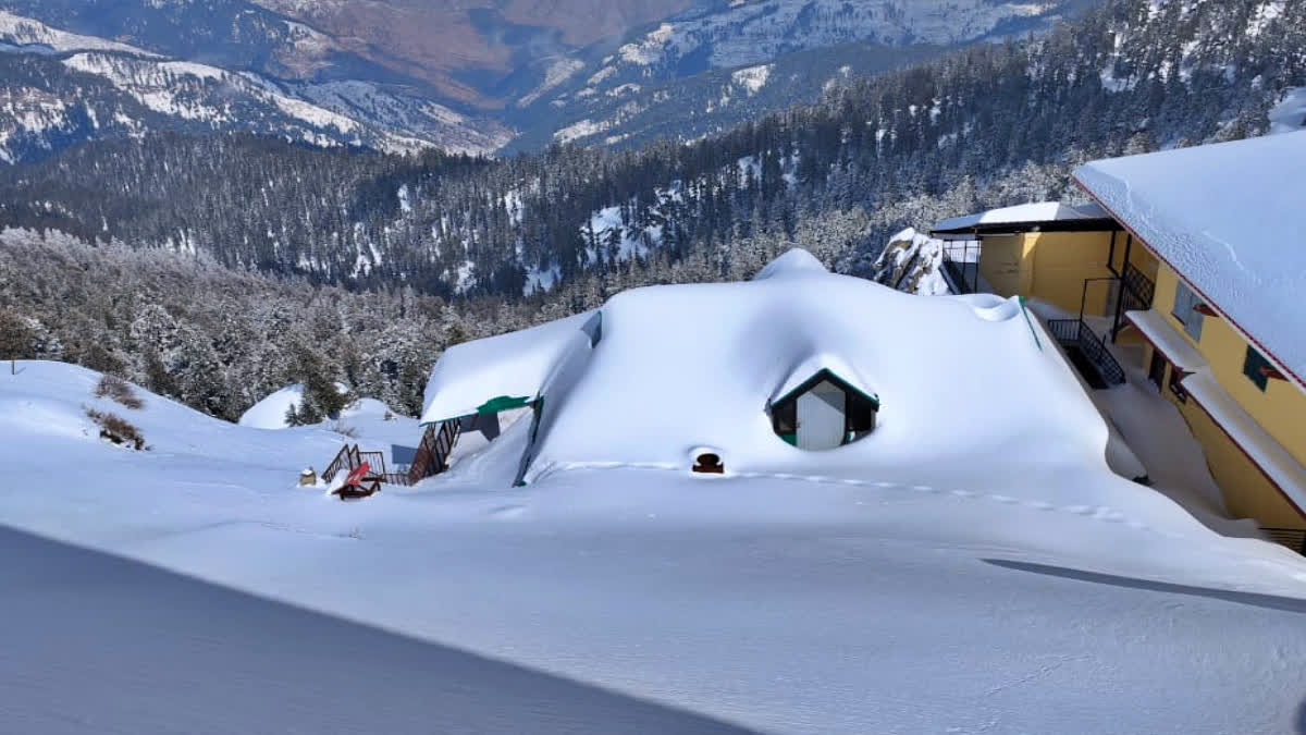
<path fill-rule="evenodd" d="M 1053 362 L 1007 326 L 970 328 L 1049 398 Z M 1037 411 L 932 415 L 940 442 L 968 421 L 1007 453 L 993 464 L 942 445 L 855 472 L 577 463 L 509 489 L 517 421 L 445 476 L 341 504 L 295 481 L 343 437 L 144 391 L 132 411 L 94 399 L 97 378 L 0 374 L 0 730 L 1306 727 L 1306 562 L 1067 449 L 1097 429 L 1017 439 Z M 84 405 L 153 450 L 101 441 Z M 364 449 L 389 441 L 384 417 L 355 424 Z"/>

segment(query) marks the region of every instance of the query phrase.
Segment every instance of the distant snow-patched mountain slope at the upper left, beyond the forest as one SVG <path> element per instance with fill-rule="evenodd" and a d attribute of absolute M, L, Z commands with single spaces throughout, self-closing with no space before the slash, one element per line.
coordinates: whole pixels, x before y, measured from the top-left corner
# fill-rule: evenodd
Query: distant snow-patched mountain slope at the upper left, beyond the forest
<path fill-rule="evenodd" d="M 443 106 L 422 85 L 248 3 L 4 5 L 12 9 L 0 10 L 0 94 L 9 101 L 0 109 L 0 160 L 159 129 L 257 132 L 385 152 L 491 152 L 512 137 L 504 126 Z M 127 12 L 129 5 L 140 12 Z"/>

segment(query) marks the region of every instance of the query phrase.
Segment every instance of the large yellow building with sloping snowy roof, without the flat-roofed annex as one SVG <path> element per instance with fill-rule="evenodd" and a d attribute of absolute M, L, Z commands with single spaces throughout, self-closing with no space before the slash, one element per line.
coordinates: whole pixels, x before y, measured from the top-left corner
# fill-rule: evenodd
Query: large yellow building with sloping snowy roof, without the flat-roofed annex
<path fill-rule="evenodd" d="M 1306 530 L 1306 135 L 1097 161 L 1075 180 L 1158 262 L 1127 320 L 1229 510 Z"/>

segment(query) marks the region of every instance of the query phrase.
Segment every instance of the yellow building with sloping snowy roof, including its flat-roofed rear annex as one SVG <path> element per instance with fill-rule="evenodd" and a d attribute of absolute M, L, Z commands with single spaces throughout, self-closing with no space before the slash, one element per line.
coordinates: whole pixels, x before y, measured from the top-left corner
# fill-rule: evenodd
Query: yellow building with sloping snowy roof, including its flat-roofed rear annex
<path fill-rule="evenodd" d="M 998 209 L 934 235 L 955 290 L 1063 311 L 1049 327 L 1093 387 L 1124 381 L 1107 343 L 1145 340 L 1140 368 L 1229 511 L 1292 535 L 1306 531 L 1302 166 L 1306 133 L 1096 161 L 1075 173 L 1091 205 Z"/>

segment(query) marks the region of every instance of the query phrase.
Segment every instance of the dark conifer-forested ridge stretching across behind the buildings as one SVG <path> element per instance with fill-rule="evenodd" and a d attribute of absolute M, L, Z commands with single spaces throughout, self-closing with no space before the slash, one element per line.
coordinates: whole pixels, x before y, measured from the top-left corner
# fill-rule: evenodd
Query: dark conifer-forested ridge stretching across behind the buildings
<path fill-rule="evenodd" d="M 893 233 L 1060 199 L 1080 161 L 1264 132 L 1306 86 L 1303 13 L 1275 0 L 1111 0 L 1047 35 L 850 78 L 815 105 L 690 144 L 475 161 L 145 135 L 0 167 L 0 228 L 445 298 L 575 288 L 568 303 L 596 303 L 649 273 L 720 277 L 808 241 L 871 276 Z M 741 99 L 761 78 L 724 73 Z"/>

